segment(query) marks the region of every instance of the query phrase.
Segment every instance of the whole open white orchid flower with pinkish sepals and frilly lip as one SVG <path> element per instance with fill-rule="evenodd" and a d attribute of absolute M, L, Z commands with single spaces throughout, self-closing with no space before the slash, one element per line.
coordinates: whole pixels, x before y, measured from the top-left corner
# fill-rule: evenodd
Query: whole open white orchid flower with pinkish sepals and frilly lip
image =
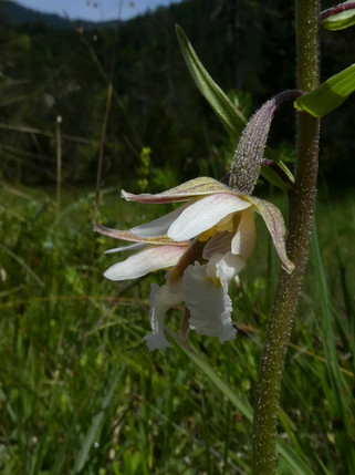
<path fill-rule="evenodd" d="M 272 237 L 281 266 L 292 272 L 284 244 L 284 223 L 271 203 L 242 195 L 213 178 L 200 177 L 157 195 L 122 192 L 126 200 L 138 203 L 187 202 L 174 211 L 129 230 L 94 224 L 94 230 L 135 244 L 124 249 L 143 250 L 109 267 L 111 280 L 143 277 L 170 269 L 163 287 L 152 285 L 149 319 L 152 333 L 145 337 L 149 350 L 169 345 L 164 333 L 168 309 L 181 300 L 189 311 L 189 327 L 220 342 L 236 338 L 231 320 L 229 282 L 240 272 L 254 250 L 257 233 L 252 210 L 258 211 Z"/>

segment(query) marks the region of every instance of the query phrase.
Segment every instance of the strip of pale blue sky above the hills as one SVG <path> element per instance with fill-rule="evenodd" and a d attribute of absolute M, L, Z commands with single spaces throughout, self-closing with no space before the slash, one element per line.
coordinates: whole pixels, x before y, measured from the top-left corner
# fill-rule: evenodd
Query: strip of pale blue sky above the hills
<path fill-rule="evenodd" d="M 71 20 L 106 21 L 128 20 L 148 9 L 178 3 L 180 0 L 15 0 L 31 10 L 44 13 L 69 14 Z M 65 13 L 64 13 L 65 12 Z"/>

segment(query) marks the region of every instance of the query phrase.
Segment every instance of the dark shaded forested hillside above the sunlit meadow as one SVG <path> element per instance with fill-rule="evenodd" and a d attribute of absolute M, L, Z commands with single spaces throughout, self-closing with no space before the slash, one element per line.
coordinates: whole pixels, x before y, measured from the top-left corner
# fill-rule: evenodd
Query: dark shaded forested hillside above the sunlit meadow
<path fill-rule="evenodd" d="M 196 90 L 175 23 L 246 114 L 294 87 L 288 60 L 294 56 L 292 2 L 288 9 L 281 0 L 185 0 L 127 22 L 97 25 L 27 17 L 24 10 L 1 16 L 0 25 L 0 154 L 7 178 L 51 183 L 61 116 L 64 178 L 93 180 L 106 110 L 105 183 L 135 179 L 143 147 L 152 149 L 149 174 L 160 172 L 166 179 L 223 174 L 236 144 Z M 353 62 L 353 31 L 323 32 L 324 78 Z M 334 180 L 344 166 L 349 183 L 355 175 L 354 107 L 351 99 L 342 114 L 335 111 L 324 120 L 321 167 Z M 271 140 L 291 159 L 293 121 L 291 107 L 285 111 Z"/>

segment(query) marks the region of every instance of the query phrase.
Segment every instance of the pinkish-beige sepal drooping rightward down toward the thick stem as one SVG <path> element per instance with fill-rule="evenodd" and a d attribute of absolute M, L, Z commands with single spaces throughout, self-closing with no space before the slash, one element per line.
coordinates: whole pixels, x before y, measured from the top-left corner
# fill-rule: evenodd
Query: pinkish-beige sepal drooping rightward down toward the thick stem
<path fill-rule="evenodd" d="M 246 199 L 249 199 L 257 209 L 257 211 L 263 218 L 269 233 L 271 234 L 273 245 L 278 252 L 278 256 L 281 260 L 282 268 L 288 272 L 293 272 L 294 264 L 288 258 L 286 248 L 285 248 L 285 227 L 282 214 L 279 208 L 272 205 L 269 202 L 263 199 L 254 198 L 253 196 L 246 196 Z"/>

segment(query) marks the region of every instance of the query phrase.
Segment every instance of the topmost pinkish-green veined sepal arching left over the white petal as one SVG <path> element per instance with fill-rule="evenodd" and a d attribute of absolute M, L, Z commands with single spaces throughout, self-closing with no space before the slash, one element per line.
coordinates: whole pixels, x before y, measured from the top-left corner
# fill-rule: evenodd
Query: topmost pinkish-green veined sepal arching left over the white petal
<path fill-rule="evenodd" d="M 124 189 L 122 190 L 122 197 L 127 202 L 138 203 L 177 203 L 186 202 L 191 198 L 197 198 L 203 195 L 211 195 L 215 193 L 231 193 L 234 194 L 231 188 L 217 182 L 213 178 L 201 176 L 198 178 L 190 179 L 189 182 L 182 183 L 174 188 L 167 189 L 166 192 L 150 195 L 143 193 L 140 195 L 133 195 Z"/>

